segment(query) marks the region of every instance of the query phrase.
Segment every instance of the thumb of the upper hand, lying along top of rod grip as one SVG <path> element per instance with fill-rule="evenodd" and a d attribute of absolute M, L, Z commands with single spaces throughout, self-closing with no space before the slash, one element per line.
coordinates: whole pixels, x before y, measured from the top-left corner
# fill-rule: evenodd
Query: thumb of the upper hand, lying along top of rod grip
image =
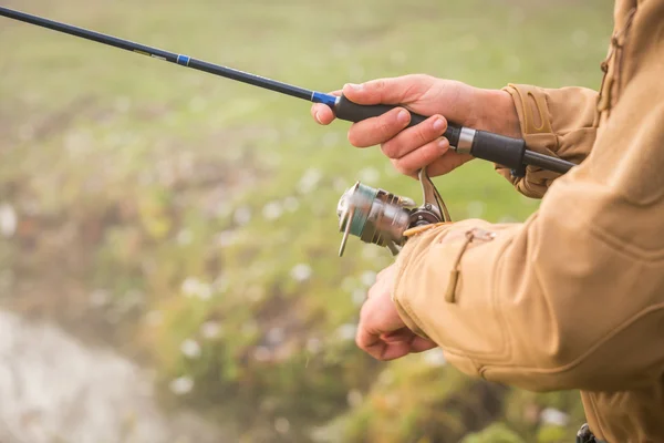
<path fill-rule="evenodd" d="M 343 94 L 357 104 L 406 104 L 416 101 L 432 86 L 427 75 L 412 74 L 345 84 Z"/>

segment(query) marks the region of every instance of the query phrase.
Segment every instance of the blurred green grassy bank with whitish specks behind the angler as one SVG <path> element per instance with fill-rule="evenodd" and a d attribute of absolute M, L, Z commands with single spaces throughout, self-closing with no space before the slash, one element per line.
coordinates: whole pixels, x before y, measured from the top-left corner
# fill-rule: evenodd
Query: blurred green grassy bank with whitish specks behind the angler
<path fill-rule="evenodd" d="M 611 31 L 610 6 L 599 0 L 8 6 L 320 91 L 414 72 L 481 87 L 596 89 Z M 375 364 L 349 339 L 363 291 L 391 257 L 359 240 L 336 257 L 339 197 L 362 179 L 422 198 L 380 150 L 350 146 L 345 122 L 318 126 L 305 102 L 1 23 L 0 200 L 21 220 L 17 236 L 1 240 L 9 250 L 1 259 L 15 275 L 7 288 L 14 306 L 29 279 L 81 295 L 54 310 L 111 293 L 100 316 L 123 347 L 147 356 L 165 385 L 195 380 L 195 403 L 216 418 L 229 405 L 224 414 L 257 439 L 280 416 L 290 433 L 272 430 L 271 441 L 304 439 L 309 425 L 344 412 L 349 391 L 370 392 L 383 368 L 422 370 Z M 519 222 L 538 206 L 479 161 L 434 182 L 456 220 Z M 76 321 L 92 321 L 76 312 Z M 224 331 L 214 339 L 201 333 L 210 322 Z M 183 356 L 187 339 L 201 343 L 199 358 Z M 448 391 L 438 385 L 425 404 L 445 410 Z M 371 404 L 350 410 L 357 435 L 386 441 L 381 426 L 396 420 L 403 441 L 419 435 L 423 420 L 439 423 L 433 413 L 401 422 Z M 505 420 L 522 436 L 535 432 Z M 440 426 L 463 435 L 467 422 Z"/>

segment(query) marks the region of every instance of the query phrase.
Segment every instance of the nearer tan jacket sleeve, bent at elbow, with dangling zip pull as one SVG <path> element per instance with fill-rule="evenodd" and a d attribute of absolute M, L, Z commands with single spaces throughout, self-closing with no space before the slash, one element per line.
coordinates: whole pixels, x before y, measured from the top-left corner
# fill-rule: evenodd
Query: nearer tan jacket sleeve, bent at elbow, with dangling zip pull
<path fill-rule="evenodd" d="M 432 226 L 397 257 L 402 318 L 463 372 L 533 391 L 636 389 L 664 373 L 664 39 L 640 44 L 655 55 L 537 213 Z M 559 155 L 585 155 L 563 138 Z"/>

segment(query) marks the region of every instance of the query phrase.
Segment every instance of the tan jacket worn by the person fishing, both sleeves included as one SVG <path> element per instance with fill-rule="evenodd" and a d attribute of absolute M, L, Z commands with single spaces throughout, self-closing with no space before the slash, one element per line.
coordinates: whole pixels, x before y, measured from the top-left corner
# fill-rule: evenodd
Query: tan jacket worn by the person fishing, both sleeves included
<path fill-rule="evenodd" d="M 614 18 L 599 94 L 506 87 L 530 148 L 583 163 L 512 181 L 543 196 L 526 223 L 412 237 L 393 297 L 459 370 L 579 389 L 598 437 L 664 442 L 664 0 L 619 0 Z"/>

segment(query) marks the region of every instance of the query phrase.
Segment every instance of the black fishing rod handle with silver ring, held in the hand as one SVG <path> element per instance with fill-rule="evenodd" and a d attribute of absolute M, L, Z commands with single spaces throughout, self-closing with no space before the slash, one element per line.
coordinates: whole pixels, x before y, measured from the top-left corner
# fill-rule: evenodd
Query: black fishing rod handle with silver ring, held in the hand
<path fill-rule="evenodd" d="M 373 104 L 362 105 L 351 102 L 343 94 L 336 97 L 334 113 L 338 119 L 347 122 L 360 122 L 376 117 L 398 107 L 397 105 Z M 424 122 L 427 117 L 411 112 L 411 123 L 407 127 Z M 522 138 L 512 138 L 487 131 L 471 130 L 447 122 L 447 131 L 444 134 L 449 141 L 449 146 L 459 154 L 470 154 L 474 157 L 486 159 L 512 169 L 512 174 L 523 176 L 526 165 L 537 166 L 542 169 L 564 174 L 570 171 L 574 163 L 561 158 L 538 154 L 527 150 Z"/>

